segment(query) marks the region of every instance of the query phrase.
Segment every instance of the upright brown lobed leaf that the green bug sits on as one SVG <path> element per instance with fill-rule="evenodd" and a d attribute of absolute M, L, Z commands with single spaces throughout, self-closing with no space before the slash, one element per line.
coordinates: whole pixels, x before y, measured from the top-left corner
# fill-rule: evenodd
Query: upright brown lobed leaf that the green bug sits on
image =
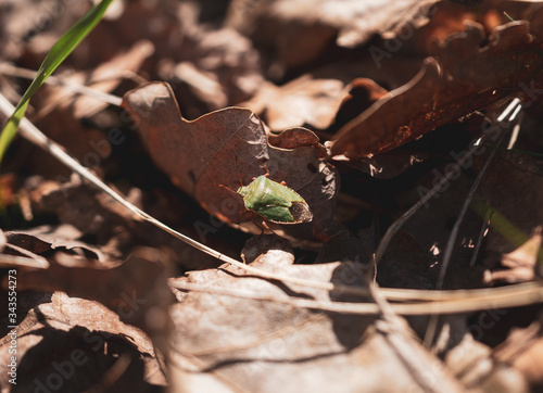
<path fill-rule="evenodd" d="M 252 220 L 232 190 L 241 186 L 240 178 L 247 186 L 269 170 L 270 179 L 285 181 L 310 205 L 314 220 L 303 225 L 306 237 L 326 239 L 336 226 L 331 215 L 337 176 L 310 130 L 298 128 L 273 138 L 277 148 L 268 144 L 264 125 L 247 109 L 227 107 L 190 122 L 181 117 L 172 89 L 163 83 L 129 91 L 123 106 L 137 122 L 157 166 L 225 223 Z"/>

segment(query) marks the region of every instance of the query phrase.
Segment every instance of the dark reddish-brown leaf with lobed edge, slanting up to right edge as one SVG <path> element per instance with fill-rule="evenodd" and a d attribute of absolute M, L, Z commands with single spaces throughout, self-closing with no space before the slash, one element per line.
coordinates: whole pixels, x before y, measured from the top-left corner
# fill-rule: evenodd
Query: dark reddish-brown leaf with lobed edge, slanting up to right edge
<path fill-rule="evenodd" d="M 332 155 L 379 154 L 512 94 L 533 100 L 540 91 L 540 39 L 528 22 L 495 29 L 480 48 L 483 33 L 471 24 L 435 47 L 420 72 L 376 102 L 336 136 Z"/>

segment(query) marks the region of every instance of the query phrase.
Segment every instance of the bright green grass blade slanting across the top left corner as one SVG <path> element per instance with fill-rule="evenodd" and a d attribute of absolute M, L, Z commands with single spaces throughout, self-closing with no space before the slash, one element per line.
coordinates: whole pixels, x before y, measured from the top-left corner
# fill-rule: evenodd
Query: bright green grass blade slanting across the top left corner
<path fill-rule="evenodd" d="M 28 106 L 28 100 L 30 97 L 34 96 L 36 90 L 43 85 L 46 79 L 56 69 L 64 59 L 66 59 L 68 54 L 72 53 L 72 51 L 77 48 L 85 37 L 87 37 L 88 34 L 94 28 L 112 1 L 113 0 L 102 0 L 98 5 L 94 5 L 53 45 L 41 63 L 33 83 L 21 98 L 21 101 L 18 101 L 15 112 L 11 115 L 2 129 L 2 135 L 0 135 L 0 164 L 8 147 L 17 132 L 18 124 L 26 113 L 26 107 Z"/>

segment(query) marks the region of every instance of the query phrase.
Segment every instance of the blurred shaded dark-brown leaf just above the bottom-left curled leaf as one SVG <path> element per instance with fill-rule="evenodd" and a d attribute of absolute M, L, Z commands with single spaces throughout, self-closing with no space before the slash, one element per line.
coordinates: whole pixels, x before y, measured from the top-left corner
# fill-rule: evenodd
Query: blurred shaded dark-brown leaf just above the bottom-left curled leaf
<path fill-rule="evenodd" d="M 169 303 L 165 266 L 168 261 L 166 253 L 149 248 L 136 249 L 124 263 L 97 265 L 94 261 L 79 261 L 66 266 L 51 261 L 46 270 L 20 271 L 17 290 L 62 291 L 73 297 L 99 302 L 164 347 Z"/>

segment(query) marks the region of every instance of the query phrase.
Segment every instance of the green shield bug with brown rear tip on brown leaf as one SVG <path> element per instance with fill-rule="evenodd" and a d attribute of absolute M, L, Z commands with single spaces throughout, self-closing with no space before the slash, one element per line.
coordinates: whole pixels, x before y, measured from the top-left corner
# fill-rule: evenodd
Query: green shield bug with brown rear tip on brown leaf
<path fill-rule="evenodd" d="M 243 196 L 247 210 L 272 223 L 301 224 L 313 219 L 310 205 L 298 192 L 266 176 L 258 176 L 237 192 Z"/>

